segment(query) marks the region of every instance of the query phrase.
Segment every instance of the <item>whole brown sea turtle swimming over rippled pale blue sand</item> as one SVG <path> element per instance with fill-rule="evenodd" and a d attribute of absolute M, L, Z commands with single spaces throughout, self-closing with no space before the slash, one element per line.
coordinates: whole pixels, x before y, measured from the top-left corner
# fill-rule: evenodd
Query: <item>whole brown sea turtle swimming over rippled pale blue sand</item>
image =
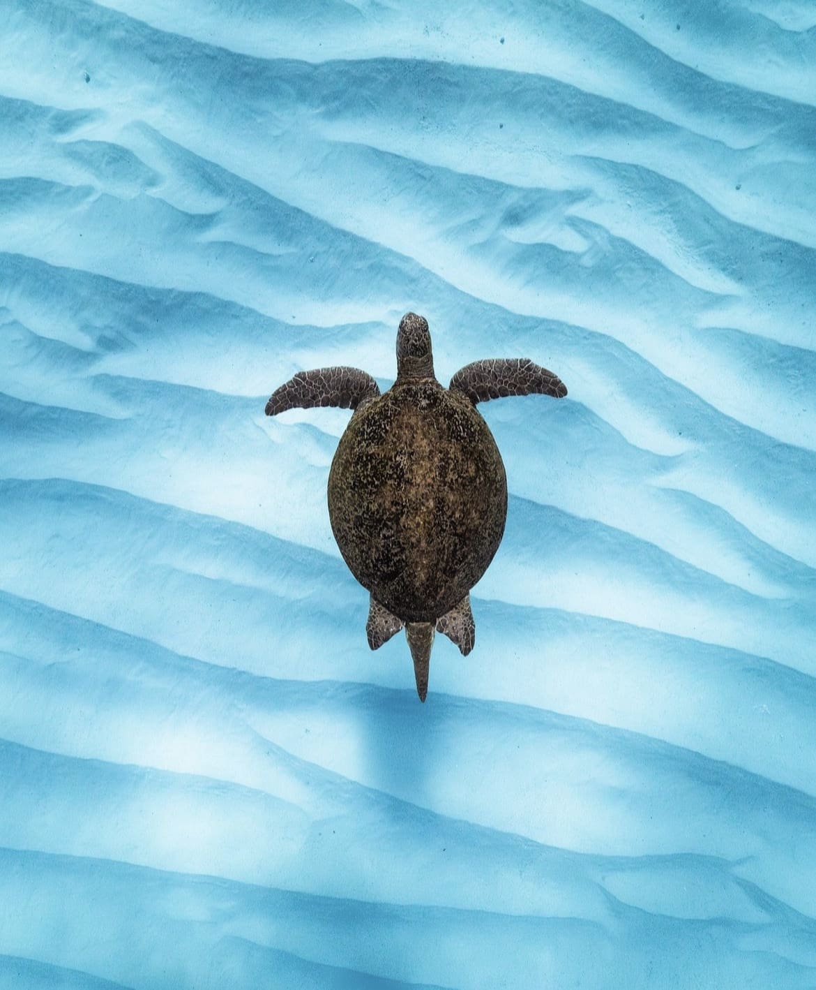
<path fill-rule="evenodd" d="M 397 381 L 384 394 L 358 368 L 318 368 L 298 372 L 266 404 L 267 416 L 296 407 L 354 410 L 328 474 L 331 529 L 371 594 L 371 648 L 405 627 L 420 701 L 435 632 L 464 655 L 473 648 L 470 590 L 504 532 L 504 465 L 476 405 L 532 392 L 561 399 L 567 388 L 527 358 L 475 361 L 445 388 L 433 373 L 427 321 L 407 313 L 397 334 Z"/>

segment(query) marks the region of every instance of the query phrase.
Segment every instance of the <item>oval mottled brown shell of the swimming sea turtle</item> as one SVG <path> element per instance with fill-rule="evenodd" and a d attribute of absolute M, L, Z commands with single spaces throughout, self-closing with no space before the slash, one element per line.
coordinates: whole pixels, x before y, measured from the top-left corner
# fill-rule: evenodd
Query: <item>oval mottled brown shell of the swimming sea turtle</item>
<path fill-rule="evenodd" d="M 398 382 L 366 403 L 340 439 L 328 514 L 343 559 L 405 622 L 457 605 L 494 557 L 507 481 L 499 447 L 465 396 Z"/>

